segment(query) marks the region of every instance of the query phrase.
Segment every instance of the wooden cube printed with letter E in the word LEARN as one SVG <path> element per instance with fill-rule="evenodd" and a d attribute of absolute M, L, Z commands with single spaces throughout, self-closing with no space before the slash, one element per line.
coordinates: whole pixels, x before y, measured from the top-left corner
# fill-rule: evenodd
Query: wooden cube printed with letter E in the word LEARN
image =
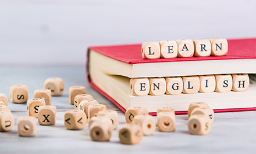
<path fill-rule="evenodd" d="M 177 42 L 173 40 L 160 41 L 161 58 L 175 58 L 177 57 L 178 49 Z"/>

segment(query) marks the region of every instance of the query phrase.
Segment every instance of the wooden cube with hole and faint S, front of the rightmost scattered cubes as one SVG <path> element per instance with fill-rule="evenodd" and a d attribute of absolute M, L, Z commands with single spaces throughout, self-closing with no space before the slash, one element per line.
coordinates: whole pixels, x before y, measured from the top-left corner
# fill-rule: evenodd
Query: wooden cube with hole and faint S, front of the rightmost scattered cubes
<path fill-rule="evenodd" d="M 191 115 L 187 126 L 189 127 L 189 133 L 195 135 L 208 134 L 211 129 L 211 124 L 204 115 Z"/>

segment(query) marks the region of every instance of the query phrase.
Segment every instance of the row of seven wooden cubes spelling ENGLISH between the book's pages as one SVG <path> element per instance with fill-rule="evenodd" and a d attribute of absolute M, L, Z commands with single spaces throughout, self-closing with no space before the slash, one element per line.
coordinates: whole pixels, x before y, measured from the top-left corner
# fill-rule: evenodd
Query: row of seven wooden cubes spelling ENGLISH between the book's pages
<path fill-rule="evenodd" d="M 247 74 L 199 75 L 166 78 L 131 78 L 130 92 L 133 96 L 148 94 L 194 94 L 233 91 L 246 91 L 250 85 Z"/>

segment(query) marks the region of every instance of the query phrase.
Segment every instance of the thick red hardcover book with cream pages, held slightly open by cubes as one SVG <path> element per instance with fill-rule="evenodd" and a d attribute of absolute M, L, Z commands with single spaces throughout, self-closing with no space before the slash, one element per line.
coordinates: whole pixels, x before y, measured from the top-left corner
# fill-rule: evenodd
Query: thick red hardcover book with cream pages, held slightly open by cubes
<path fill-rule="evenodd" d="M 189 100 L 205 101 L 215 112 L 256 110 L 256 96 L 253 96 L 256 93 L 256 38 L 227 42 L 229 50 L 226 56 L 187 58 L 143 59 L 141 44 L 88 47 L 88 83 L 123 112 L 129 106 L 142 105 L 155 115 L 157 107 L 166 105 L 174 107 L 177 114 L 184 114 L 191 103 Z M 246 92 L 145 97 L 129 93 L 130 78 L 238 73 L 250 74 L 251 83 Z"/>

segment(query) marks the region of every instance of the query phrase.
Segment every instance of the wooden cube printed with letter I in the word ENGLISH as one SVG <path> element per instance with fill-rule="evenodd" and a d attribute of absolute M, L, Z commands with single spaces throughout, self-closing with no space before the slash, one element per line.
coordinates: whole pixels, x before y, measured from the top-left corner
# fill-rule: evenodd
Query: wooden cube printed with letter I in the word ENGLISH
<path fill-rule="evenodd" d="M 200 93 L 212 93 L 216 88 L 216 79 L 214 75 L 199 75 Z"/>

